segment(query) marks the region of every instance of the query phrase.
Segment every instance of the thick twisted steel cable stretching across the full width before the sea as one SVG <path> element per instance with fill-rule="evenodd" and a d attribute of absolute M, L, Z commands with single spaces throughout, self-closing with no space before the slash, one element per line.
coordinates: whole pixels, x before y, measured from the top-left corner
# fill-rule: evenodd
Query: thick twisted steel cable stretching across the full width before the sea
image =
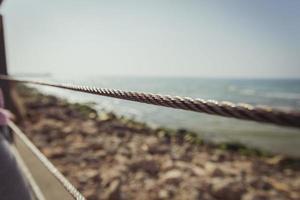
<path fill-rule="evenodd" d="M 193 99 L 189 97 L 151 94 L 144 92 L 120 91 L 114 89 L 88 87 L 71 84 L 57 84 L 34 80 L 14 79 L 0 75 L 0 80 L 29 83 L 43 86 L 63 88 L 101 96 L 113 97 L 140 103 L 147 103 L 176 109 L 183 109 L 224 117 L 231 117 L 256 122 L 272 123 L 282 126 L 300 127 L 299 111 L 283 111 L 269 106 L 252 106 L 245 103 L 217 102 L 214 100 Z"/>

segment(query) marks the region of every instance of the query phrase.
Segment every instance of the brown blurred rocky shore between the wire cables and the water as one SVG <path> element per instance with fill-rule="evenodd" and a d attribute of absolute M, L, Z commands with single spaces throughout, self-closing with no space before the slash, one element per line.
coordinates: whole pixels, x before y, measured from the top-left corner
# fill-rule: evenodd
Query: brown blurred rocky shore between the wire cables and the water
<path fill-rule="evenodd" d="M 152 128 L 23 85 L 33 143 L 87 199 L 300 199 L 300 159 Z"/>

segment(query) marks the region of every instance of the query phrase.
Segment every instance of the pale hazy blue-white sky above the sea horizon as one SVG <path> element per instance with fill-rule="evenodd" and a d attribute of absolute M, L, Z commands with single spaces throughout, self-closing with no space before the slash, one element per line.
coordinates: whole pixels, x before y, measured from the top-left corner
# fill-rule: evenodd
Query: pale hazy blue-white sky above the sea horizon
<path fill-rule="evenodd" d="M 300 77 L 299 0 L 6 0 L 10 72 Z"/>

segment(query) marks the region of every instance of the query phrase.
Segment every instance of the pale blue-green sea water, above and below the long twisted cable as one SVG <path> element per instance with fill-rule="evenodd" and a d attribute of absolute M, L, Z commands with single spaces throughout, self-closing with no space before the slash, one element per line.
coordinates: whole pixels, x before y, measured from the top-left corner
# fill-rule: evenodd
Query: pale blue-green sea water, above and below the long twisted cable
<path fill-rule="evenodd" d="M 56 82 L 71 82 L 103 88 L 189 96 L 218 101 L 270 105 L 300 110 L 300 80 L 203 79 L 203 78 L 136 78 L 85 77 Z M 175 110 L 79 92 L 39 87 L 42 91 L 71 101 L 95 102 L 99 109 L 115 111 L 153 126 L 194 130 L 214 141 L 240 141 L 266 150 L 300 156 L 300 129 L 260 124 L 189 111 Z"/>

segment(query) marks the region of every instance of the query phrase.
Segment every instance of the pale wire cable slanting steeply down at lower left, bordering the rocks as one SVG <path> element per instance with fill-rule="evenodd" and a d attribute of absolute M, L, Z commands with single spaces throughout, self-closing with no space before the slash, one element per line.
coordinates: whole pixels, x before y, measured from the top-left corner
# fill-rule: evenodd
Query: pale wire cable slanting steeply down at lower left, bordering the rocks
<path fill-rule="evenodd" d="M 47 168 L 47 170 L 61 183 L 61 185 L 76 200 L 85 200 L 85 197 L 62 175 L 59 170 L 31 143 L 26 135 L 13 123 L 9 122 L 8 126 L 22 140 L 28 149 L 36 156 L 36 158 Z"/>

